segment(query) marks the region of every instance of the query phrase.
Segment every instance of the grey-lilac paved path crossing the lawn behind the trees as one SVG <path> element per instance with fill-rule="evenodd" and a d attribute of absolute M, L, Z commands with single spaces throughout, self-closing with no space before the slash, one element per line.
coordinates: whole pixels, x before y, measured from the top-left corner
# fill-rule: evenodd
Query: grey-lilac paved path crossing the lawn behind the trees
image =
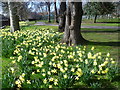
<path fill-rule="evenodd" d="M 34 25 L 40 25 L 40 26 L 58 26 L 58 24 L 46 24 L 44 22 L 37 22 Z M 86 26 L 86 25 L 82 25 L 81 28 L 120 29 L 120 27 L 117 27 L 117 26 Z"/>

